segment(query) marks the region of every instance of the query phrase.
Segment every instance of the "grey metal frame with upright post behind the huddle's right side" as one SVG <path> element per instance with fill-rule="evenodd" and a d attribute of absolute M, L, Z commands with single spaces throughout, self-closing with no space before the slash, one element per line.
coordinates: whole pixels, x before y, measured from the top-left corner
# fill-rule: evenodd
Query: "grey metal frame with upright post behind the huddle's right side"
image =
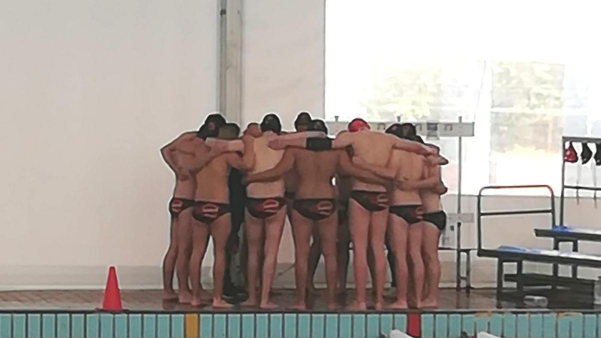
<path fill-rule="evenodd" d="M 396 121 L 378 121 L 368 122 L 373 131 L 385 131 L 392 123 L 400 123 L 401 117 L 398 116 Z M 471 253 L 477 250 L 475 247 L 462 247 L 461 227 L 463 223 L 474 224 L 474 214 L 462 213 L 461 198 L 462 198 L 462 165 L 463 165 L 463 138 L 474 137 L 474 122 L 463 122 L 463 118 L 459 117 L 456 122 L 416 122 L 403 121 L 415 124 L 415 129 L 419 135 L 425 136 L 429 140 L 439 140 L 441 137 L 456 137 L 457 138 L 457 212 L 448 214 L 448 223 L 456 224 L 456 244 L 455 247 L 440 247 L 440 250 L 455 251 L 456 253 L 456 289 L 465 289 L 466 293 L 470 293 L 472 289 L 471 282 Z M 347 129 L 349 121 L 340 121 L 338 116 L 334 117 L 334 121 L 326 121 L 330 134 L 336 135 L 338 132 Z M 465 254 L 465 274 L 462 274 L 462 254 Z M 465 286 L 463 286 L 465 281 Z"/>

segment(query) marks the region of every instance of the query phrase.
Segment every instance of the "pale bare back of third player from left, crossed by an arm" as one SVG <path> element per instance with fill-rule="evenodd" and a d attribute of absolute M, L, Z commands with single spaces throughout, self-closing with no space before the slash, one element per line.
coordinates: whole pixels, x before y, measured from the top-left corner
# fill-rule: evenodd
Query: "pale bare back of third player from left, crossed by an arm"
<path fill-rule="evenodd" d="M 276 138 L 273 132 L 265 132 L 261 137 L 254 139 L 254 152 L 256 156 L 255 166 L 249 173 L 260 173 L 275 167 L 284 155 L 284 150 L 271 149 L 268 144 L 270 140 Z M 250 183 L 246 187 L 248 197 L 266 198 L 278 197 L 284 195 L 284 180 L 277 179 L 270 182 Z"/>

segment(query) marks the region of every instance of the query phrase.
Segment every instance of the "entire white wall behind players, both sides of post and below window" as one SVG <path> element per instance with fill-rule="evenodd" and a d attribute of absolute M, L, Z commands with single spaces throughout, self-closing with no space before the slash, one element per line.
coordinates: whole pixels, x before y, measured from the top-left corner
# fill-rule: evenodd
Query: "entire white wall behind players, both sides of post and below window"
<path fill-rule="evenodd" d="M 243 2 L 246 122 L 276 111 L 289 129 L 298 111 L 323 116 L 323 8 L 323 0 Z M 3 6 L 0 288 L 100 286 L 107 265 L 118 265 L 124 286 L 160 285 L 172 176 L 158 149 L 216 109 L 216 13 L 216 1 L 191 0 Z M 448 210 L 454 200 L 445 197 Z M 474 205 L 464 198 L 466 212 Z M 601 228 L 591 200 L 570 200 L 567 208 L 570 223 Z M 485 242 L 551 247 L 532 232 L 548 221 L 524 220 L 492 221 Z M 473 227 L 463 228 L 464 246 L 475 244 Z M 286 229 L 282 268 L 293 257 Z M 474 283 L 492 282 L 494 267 L 475 259 Z M 443 281 L 453 278 L 454 265 L 445 264 Z M 291 272 L 276 280 L 292 282 Z"/>

